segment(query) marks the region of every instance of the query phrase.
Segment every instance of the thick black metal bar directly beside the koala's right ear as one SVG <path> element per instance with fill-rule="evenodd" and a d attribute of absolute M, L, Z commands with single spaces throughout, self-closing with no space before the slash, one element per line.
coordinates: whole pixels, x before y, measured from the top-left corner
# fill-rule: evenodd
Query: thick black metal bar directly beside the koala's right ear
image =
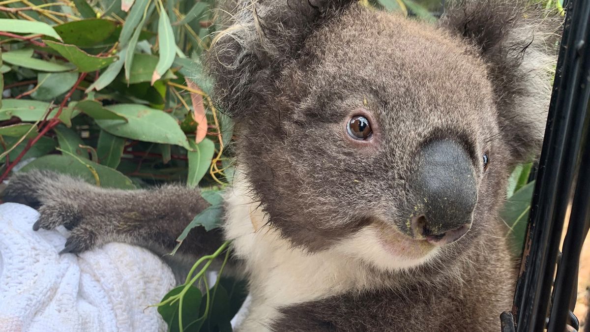
<path fill-rule="evenodd" d="M 581 109 L 580 104 L 588 103 L 583 83 L 589 74 L 585 71 L 590 60 L 586 47 L 590 42 L 589 21 L 590 1 L 569 1 L 529 229 L 514 292 L 512 313 L 519 332 L 543 331 L 545 327 L 560 236 L 579 170 L 582 134 L 587 129 L 586 109 Z M 567 279 L 564 284 L 568 284 Z M 569 301 L 570 294 L 565 295 Z M 561 298 L 559 295 L 556 301 L 562 301 Z M 567 313 L 568 307 L 561 310 Z M 554 308 L 559 310 L 558 305 Z M 557 319 L 554 324 L 560 323 Z"/>

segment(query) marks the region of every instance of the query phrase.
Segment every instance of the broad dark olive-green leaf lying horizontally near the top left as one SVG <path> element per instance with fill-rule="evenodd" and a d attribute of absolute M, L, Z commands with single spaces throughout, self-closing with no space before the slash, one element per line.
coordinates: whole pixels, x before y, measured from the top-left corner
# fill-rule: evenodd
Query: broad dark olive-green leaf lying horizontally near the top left
<path fill-rule="evenodd" d="M 55 26 L 54 29 L 64 44 L 90 47 L 109 38 L 116 27 L 116 22 L 109 19 L 93 18 L 67 22 Z"/>

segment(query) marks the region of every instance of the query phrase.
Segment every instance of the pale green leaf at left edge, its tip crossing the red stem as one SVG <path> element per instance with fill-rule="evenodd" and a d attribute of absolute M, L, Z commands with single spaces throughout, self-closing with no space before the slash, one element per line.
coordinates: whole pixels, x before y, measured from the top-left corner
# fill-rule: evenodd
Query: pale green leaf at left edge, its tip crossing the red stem
<path fill-rule="evenodd" d="M 8 120 L 12 116 L 16 116 L 24 122 L 35 122 L 41 120 L 43 115 L 51 106 L 50 103 L 38 102 L 37 100 L 25 99 L 4 99 L 2 100 L 2 108 L 0 108 L 0 121 Z M 53 118 L 57 113 L 58 107 L 51 110 L 47 119 Z M 71 116 L 73 109 L 64 108 L 61 111 L 60 120 L 65 125 L 71 126 Z"/>

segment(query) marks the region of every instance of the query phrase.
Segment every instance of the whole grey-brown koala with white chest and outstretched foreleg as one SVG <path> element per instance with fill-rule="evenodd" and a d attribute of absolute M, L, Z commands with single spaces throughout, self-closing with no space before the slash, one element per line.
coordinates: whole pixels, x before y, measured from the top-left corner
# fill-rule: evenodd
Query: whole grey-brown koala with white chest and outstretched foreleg
<path fill-rule="evenodd" d="M 507 178 L 542 145 L 559 15 L 464 0 L 437 24 L 353 0 L 238 1 L 207 66 L 236 123 L 220 229 L 192 229 L 181 269 L 232 240 L 252 297 L 240 331 L 499 331 L 516 259 Z M 112 190 L 44 171 L 5 201 L 64 252 L 159 255 L 208 203 L 165 185 Z"/>

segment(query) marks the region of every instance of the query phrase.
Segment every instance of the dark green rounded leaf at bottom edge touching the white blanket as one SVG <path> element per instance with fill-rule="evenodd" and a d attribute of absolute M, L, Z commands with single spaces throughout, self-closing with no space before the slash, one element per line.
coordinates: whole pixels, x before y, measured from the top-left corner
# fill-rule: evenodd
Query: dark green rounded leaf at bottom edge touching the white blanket
<path fill-rule="evenodd" d="M 168 298 L 172 297 L 173 295 L 178 295 L 184 285 L 178 286 L 173 288 L 171 291 L 168 292 L 163 298 L 162 301 L 168 300 Z M 194 323 L 195 321 L 199 320 L 199 309 L 201 308 L 201 301 L 203 300 L 203 296 L 201 291 L 199 291 L 196 287 L 191 287 L 185 293 L 183 297 L 182 303 L 182 324 L 183 330 L 186 330 L 190 324 Z M 168 324 L 169 331 L 180 331 L 180 327 L 178 325 L 178 311 L 179 311 L 179 301 L 173 302 L 172 304 L 164 304 L 158 307 L 158 313 L 162 315 L 166 324 Z M 191 329 L 191 331 L 196 330 L 198 328 Z"/>

